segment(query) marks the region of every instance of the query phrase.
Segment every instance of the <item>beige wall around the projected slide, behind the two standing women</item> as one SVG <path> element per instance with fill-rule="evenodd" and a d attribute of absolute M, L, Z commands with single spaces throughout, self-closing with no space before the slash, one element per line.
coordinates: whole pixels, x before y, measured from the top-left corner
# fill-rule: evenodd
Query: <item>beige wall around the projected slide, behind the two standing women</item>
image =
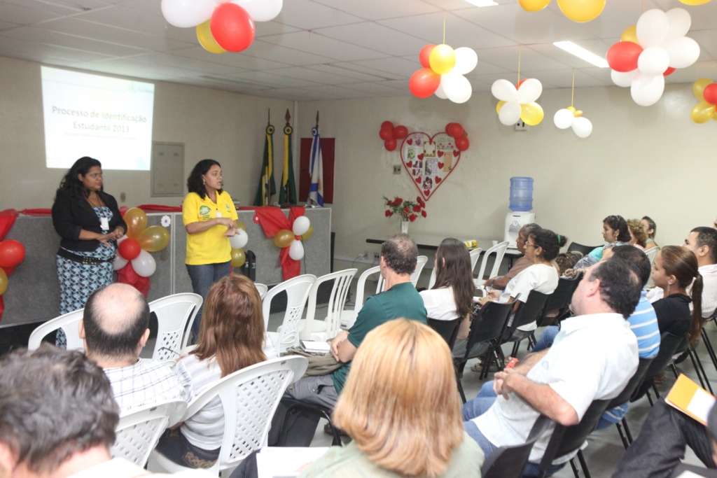
<path fill-rule="evenodd" d="M 243 205 L 251 204 L 257 191 L 267 108 L 271 108 L 277 128 L 274 175 L 279 186 L 284 115 L 287 108 L 293 115 L 292 102 L 153 83 L 153 140 L 184 143 L 185 178 L 201 159 L 222 163 L 224 188 Z M 45 167 L 40 64 L 0 57 L 0 209 L 51 207 L 66 172 Z M 126 193 L 120 206 L 179 206 L 182 201 L 181 197 L 152 198 L 149 171 L 105 171 L 104 178 L 105 191 L 118 201 L 120 193 Z"/>

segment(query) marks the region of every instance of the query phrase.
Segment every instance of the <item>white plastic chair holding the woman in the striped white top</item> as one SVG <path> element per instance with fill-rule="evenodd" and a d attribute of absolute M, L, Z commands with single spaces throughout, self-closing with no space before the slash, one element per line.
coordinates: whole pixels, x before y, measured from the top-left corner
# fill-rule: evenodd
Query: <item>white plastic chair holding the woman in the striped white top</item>
<path fill-rule="evenodd" d="M 236 468 L 252 451 L 267 446 L 271 421 L 279 401 L 290 383 L 298 381 L 308 360 L 298 355 L 275 358 L 234 372 L 207 388 L 189 403 L 181 421 L 194 416 L 219 396 L 224 408 L 224 440 L 219 459 L 206 472 L 218 476 L 223 470 Z M 152 451 L 150 472 L 186 472 L 182 467 Z M 231 472 L 227 472 L 227 476 Z"/>

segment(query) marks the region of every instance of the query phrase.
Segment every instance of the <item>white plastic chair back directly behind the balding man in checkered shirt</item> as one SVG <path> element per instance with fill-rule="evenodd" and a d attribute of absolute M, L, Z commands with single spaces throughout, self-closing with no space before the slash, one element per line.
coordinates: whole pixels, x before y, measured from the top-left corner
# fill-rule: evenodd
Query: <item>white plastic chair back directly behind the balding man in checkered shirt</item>
<path fill-rule="evenodd" d="M 186 401 L 168 400 L 123 414 L 115 429 L 117 439 L 112 446 L 112 457 L 124 458 L 143 468 L 159 437 L 168 426 L 178 423 L 185 412 Z"/>

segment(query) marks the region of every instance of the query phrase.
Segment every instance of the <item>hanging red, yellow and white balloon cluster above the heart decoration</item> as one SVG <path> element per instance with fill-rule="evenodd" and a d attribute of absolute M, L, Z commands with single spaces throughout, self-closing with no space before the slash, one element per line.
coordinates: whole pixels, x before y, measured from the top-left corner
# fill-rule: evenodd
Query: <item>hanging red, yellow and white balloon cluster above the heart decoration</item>
<path fill-rule="evenodd" d="M 478 64 L 478 55 L 473 49 L 462 47 L 452 49 L 447 44 L 429 44 L 419 54 L 421 70 L 409 80 L 409 90 L 419 97 L 435 94 L 442 100 L 465 103 L 473 94 L 473 87 L 463 76 L 472 72 Z"/>

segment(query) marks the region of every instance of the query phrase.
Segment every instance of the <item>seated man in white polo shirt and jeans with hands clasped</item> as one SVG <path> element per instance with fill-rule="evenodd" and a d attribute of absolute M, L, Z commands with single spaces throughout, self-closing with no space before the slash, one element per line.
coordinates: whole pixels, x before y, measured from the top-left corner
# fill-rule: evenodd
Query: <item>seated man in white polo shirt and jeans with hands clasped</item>
<path fill-rule="evenodd" d="M 475 398 L 463 406 L 465 430 L 486 457 L 499 446 L 525 443 L 541 414 L 564 426 L 578 424 L 592 401 L 614 398 L 625 388 L 638 363 L 637 338 L 625 319 L 635 310 L 641 287 L 622 261 L 589 269 L 573 295 L 576 316 L 562 322 L 553 346 L 496 373 L 498 398 Z M 549 427 L 536 441 L 523 476 L 538 476 L 536 463 L 552 431 Z M 562 467 L 570 458 L 557 457 L 554 465 Z"/>

